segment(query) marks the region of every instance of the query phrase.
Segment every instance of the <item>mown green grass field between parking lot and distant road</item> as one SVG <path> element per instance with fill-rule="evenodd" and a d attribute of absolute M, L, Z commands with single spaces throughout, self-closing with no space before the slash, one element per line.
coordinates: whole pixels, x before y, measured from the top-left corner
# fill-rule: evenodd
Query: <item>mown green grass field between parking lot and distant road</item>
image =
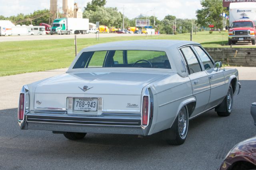
<path fill-rule="evenodd" d="M 85 38 L 78 39 L 77 43 L 80 51 L 97 43 L 145 39 L 190 40 L 190 34 L 112 37 L 100 38 L 99 41 L 95 38 Z M 193 34 L 193 41 L 201 43 L 204 47 L 229 47 L 222 46 L 222 40 L 224 44 L 227 43 L 226 32 Z M 74 39 L 0 42 L 0 51 L 0 76 L 69 67 L 75 57 Z"/>

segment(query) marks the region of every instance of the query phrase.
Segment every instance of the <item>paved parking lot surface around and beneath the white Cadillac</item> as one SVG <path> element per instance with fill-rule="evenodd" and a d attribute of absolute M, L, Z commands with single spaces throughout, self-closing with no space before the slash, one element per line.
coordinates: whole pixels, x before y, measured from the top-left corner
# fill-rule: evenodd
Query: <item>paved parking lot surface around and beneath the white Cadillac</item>
<path fill-rule="evenodd" d="M 20 130 L 16 107 L 21 86 L 64 70 L 0 77 L 0 169 L 216 170 L 237 142 L 256 134 L 250 116 L 250 103 L 256 101 L 256 68 L 237 69 L 242 90 L 234 98 L 232 114 L 218 117 L 208 111 L 193 119 L 181 146 L 169 146 L 160 134 L 88 134 L 70 141 L 50 131 Z"/>

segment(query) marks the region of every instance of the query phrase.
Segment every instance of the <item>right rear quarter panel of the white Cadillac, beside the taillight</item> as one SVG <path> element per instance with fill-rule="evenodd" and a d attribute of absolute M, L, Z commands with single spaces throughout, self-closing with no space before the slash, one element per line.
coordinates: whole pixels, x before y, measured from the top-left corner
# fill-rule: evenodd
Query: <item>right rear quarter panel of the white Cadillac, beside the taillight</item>
<path fill-rule="evenodd" d="M 181 107 L 195 100 L 188 77 L 177 73 L 163 77 L 150 85 L 154 94 L 154 117 L 149 134 L 170 128 Z"/>

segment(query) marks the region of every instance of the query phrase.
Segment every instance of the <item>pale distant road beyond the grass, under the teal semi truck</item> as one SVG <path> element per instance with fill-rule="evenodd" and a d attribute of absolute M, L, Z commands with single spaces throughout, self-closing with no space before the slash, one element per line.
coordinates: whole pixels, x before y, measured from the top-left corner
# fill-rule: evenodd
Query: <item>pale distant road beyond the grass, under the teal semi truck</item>
<path fill-rule="evenodd" d="M 96 34 L 77 34 L 77 38 L 96 38 Z M 100 38 L 105 37 L 126 37 L 126 36 L 146 36 L 145 34 L 100 34 Z M 74 39 L 75 35 L 44 35 L 44 36 L 0 36 L 0 42 L 28 41 L 28 40 L 56 40 Z"/>

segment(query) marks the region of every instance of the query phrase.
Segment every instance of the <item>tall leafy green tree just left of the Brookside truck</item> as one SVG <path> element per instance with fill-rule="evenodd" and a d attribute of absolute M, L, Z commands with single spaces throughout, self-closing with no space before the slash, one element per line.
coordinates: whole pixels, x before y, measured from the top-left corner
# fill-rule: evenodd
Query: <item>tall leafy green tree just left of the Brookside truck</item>
<path fill-rule="evenodd" d="M 212 24 L 216 28 L 222 28 L 222 0 L 202 0 L 201 5 L 202 9 L 196 11 L 196 22 L 205 27 Z"/>

